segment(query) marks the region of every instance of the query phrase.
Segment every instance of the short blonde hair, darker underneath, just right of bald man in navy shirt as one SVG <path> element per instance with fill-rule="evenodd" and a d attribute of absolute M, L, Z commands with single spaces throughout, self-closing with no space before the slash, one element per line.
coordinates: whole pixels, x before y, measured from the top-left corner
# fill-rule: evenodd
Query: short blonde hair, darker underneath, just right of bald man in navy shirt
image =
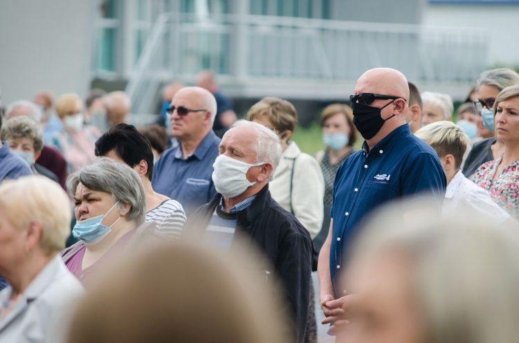
<path fill-rule="evenodd" d="M 422 127 L 415 132 L 415 136 L 435 149 L 440 158 L 449 154 L 454 156 L 456 169 L 461 167 L 468 145 L 468 136 L 461 127 L 441 120 Z"/>

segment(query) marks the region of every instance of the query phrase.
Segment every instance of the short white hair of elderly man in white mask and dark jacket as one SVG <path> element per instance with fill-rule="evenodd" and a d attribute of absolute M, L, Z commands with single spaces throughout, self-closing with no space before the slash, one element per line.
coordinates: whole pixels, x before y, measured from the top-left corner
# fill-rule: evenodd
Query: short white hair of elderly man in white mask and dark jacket
<path fill-rule="evenodd" d="M 256 163 L 268 162 L 272 164 L 272 172 L 268 180 L 274 177 L 275 169 L 281 159 L 281 143 L 280 138 L 270 129 L 257 122 L 249 122 L 248 120 L 238 120 L 233 127 L 251 127 L 254 129 L 257 139 L 254 147 L 251 147 L 256 153 Z"/>

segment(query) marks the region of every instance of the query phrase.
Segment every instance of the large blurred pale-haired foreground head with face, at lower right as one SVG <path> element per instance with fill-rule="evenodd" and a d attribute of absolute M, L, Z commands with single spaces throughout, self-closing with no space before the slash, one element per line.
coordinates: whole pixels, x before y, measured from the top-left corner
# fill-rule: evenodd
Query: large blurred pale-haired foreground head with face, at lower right
<path fill-rule="evenodd" d="M 352 249 L 343 282 L 356 297 L 337 342 L 517 342 L 518 229 L 402 205 Z"/>

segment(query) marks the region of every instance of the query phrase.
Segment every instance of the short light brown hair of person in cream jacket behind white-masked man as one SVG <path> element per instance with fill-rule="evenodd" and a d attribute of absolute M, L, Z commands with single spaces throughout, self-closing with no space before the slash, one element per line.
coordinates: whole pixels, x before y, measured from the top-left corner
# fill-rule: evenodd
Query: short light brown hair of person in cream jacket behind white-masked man
<path fill-rule="evenodd" d="M 266 117 L 278 132 L 294 131 L 298 123 L 298 111 L 290 102 L 274 97 L 266 97 L 253 104 L 247 112 L 247 119 Z"/>

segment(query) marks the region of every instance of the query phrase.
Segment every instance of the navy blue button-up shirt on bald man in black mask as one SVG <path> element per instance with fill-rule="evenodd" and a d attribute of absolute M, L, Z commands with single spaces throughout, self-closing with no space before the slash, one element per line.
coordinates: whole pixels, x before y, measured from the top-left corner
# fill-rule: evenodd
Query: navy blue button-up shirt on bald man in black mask
<path fill-rule="evenodd" d="M 340 166 L 334 182 L 330 210 L 334 219 L 330 246 L 330 275 L 334 285 L 347 245 L 367 214 L 388 201 L 426 192 L 437 199 L 441 210 L 446 187 L 437 154 L 412 135 L 407 124 L 385 136 L 371 150 L 364 142 L 363 149 Z"/>

